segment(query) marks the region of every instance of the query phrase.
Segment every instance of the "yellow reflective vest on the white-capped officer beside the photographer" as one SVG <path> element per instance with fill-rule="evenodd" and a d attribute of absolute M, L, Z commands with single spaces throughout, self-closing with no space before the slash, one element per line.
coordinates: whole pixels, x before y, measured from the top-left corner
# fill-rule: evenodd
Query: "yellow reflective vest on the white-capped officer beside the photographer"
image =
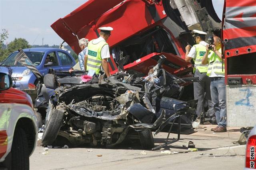
<path fill-rule="evenodd" d="M 195 67 L 200 73 L 206 73 L 208 70 L 208 64 L 202 64 L 202 59 L 204 57 L 204 54 L 206 53 L 206 47 L 202 44 L 196 44 L 194 46 L 196 47 Z"/>

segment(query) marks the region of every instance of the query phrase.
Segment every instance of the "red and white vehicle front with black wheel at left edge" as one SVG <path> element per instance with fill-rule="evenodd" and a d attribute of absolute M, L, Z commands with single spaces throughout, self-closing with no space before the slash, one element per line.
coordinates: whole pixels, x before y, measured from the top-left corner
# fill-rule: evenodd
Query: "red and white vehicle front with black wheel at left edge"
<path fill-rule="evenodd" d="M 38 125 L 31 97 L 0 73 L 0 169 L 28 170 Z"/>

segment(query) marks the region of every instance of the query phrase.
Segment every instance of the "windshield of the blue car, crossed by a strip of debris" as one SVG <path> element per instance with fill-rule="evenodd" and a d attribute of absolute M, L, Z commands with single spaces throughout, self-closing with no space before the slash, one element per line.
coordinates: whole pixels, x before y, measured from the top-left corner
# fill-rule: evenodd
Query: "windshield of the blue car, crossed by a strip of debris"
<path fill-rule="evenodd" d="M 42 53 L 42 52 L 26 51 L 25 53 L 28 56 L 28 58 L 30 59 L 30 61 L 32 61 L 34 66 L 39 65 L 42 61 L 43 56 L 44 56 L 44 53 Z M 15 63 L 14 58 L 17 54 L 18 54 L 18 52 L 14 52 L 11 55 L 9 55 L 9 57 L 7 57 L 1 63 L 1 65 L 3 65 L 3 66 L 22 66 L 19 62 L 17 62 L 16 65 L 14 65 L 14 63 Z"/>

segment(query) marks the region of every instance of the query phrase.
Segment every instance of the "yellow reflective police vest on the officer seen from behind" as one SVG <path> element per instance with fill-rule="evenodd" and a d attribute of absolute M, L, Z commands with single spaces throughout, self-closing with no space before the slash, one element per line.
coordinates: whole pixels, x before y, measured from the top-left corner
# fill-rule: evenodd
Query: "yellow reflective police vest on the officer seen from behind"
<path fill-rule="evenodd" d="M 108 43 L 100 41 L 96 44 L 90 41 L 88 43 L 88 57 L 87 57 L 87 70 L 94 70 L 96 74 L 100 72 L 102 59 L 101 59 L 101 49 L 104 45 Z"/>

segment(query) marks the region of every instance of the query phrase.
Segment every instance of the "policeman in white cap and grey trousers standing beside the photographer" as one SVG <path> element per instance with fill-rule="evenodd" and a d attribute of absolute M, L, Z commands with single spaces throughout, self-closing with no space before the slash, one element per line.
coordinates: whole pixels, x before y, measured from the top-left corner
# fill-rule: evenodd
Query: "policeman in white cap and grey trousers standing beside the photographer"
<path fill-rule="evenodd" d="M 198 99 L 198 104 L 196 107 L 197 116 L 204 113 L 205 102 L 208 103 L 209 115 L 211 122 L 216 124 L 216 118 L 213 110 L 211 93 L 210 93 L 210 78 L 206 75 L 208 70 L 208 64 L 202 64 L 202 58 L 206 53 L 206 45 L 209 45 L 204 40 L 207 33 L 199 30 L 193 30 L 194 38 L 196 44 L 190 49 L 190 45 L 186 46 L 186 62 L 189 62 L 191 59 L 194 60 L 194 77 L 199 77 L 199 82 L 194 82 L 194 99 Z"/>

